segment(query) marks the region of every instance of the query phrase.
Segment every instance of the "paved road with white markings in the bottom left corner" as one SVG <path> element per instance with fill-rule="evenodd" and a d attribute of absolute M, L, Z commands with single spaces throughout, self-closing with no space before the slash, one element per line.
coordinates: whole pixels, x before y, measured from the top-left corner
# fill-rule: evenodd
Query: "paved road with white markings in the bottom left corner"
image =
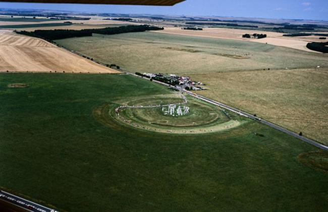
<path fill-rule="evenodd" d="M 17 205 L 18 207 L 24 208 L 26 211 L 38 211 L 38 212 L 57 212 L 54 209 L 42 206 L 35 202 L 29 201 L 27 199 L 23 199 L 16 195 L 7 193 L 5 191 L 0 190 L 0 199 L 5 200 L 9 203 Z"/>

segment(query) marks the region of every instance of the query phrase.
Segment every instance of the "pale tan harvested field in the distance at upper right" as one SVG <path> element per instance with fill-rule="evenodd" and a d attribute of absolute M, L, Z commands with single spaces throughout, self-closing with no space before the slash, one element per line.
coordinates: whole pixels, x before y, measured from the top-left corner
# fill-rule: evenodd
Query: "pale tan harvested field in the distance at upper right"
<path fill-rule="evenodd" d="M 267 43 L 275 46 L 289 47 L 298 50 L 316 52 L 306 48 L 306 44 L 308 43 L 308 38 L 302 39 L 302 38 L 295 38 L 295 37 L 283 37 L 284 33 L 278 33 L 278 32 L 265 32 L 265 31 L 256 31 L 256 30 L 227 29 L 227 28 L 204 28 L 202 31 L 195 31 L 195 30 L 182 30 L 181 28 L 177 28 L 177 27 L 165 28 L 165 30 L 163 31 L 155 31 L 155 32 L 175 34 L 175 35 L 188 35 L 188 36 L 198 36 L 198 37 L 208 37 L 208 38 L 252 41 L 258 43 Z M 262 39 L 243 38 L 242 35 L 246 33 L 266 34 L 267 38 L 262 38 Z"/>

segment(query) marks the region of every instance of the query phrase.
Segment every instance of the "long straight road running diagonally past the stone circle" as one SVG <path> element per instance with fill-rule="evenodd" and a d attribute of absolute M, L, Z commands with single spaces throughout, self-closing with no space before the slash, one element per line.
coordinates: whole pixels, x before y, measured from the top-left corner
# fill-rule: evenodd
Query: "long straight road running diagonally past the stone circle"
<path fill-rule="evenodd" d="M 124 72 L 124 73 L 126 73 L 126 74 L 128 74 L 128 75 L 132 75 L 132 76 L 134 76 L 134 77 L 139 77 L 139 78 L 141 78 L 141 76 L 138 76 L 138 75 L 135 75 L 135 74 L 132 74 L 132 73 L 129 73 L 129 72 L 125 72 L 124 70 L 120 70 L 120 71 L 121 71 L 121 72 Z M 149 80 L 148 78 L 144 78 L 144 79 L 145 79 L 145 80 Z M 168 85 L 168 84 L 166 84 L 166 83 L 158 82 L 158 81 L 155 81 L 155 80 L 153 80 L 152 82 L 154 82 L 154 83 L 158 83 L 158 84 L 161 84 L 161 85 L 163 85 L 163 86 L 172 87 L 172 86 L 170 86 L 170 85 Z M 172 88 L 174 88 L 174 87 L 172 87 Z M 242 115 L 242 116 L 248 117 L 248 118 L 250 118 L 250 119 L 253 119 L 253 120 L 255 120 L 255 121 L 261 122 L 262 124 L 266 124 L 266 125 L 268 125 L 268 126 L 270 126 L 270 127 L 272 127 L 272 128 L 278 129 L 278 130 L 280 130 L 280 131 L 282 131 L 282 132 L 285 132 L 285 133 L 287 133 L 287 134 L 289 134 L 289 135 L 292 135 L 292 136 L 294 136 L 294 137 L 297 137 L 297 138 L 303 140 L 303 142 L 306 142 L 306 143 L 308 143 L 308 144 L 310 144 L 310 145 L 313 145 L 313 146 L 315 146 L 315 147 L 317 147 L 317 148 L 319 148 L 319 149 L 321 149 L 321 150 L 328 151 L 328 147 L 327 147 L 327 146 L 324 146 L 324 145 L 322 145 L 322 144 L 320 144 L 320 143 L 318 143 L 318 142 L 315 142 L 314 140 L 312 140 L 312 139 L 310 139 L 310 138 L 307 138 L 307 137 L 304 137 L 304 136 L 300 136 L 299 134 L 297 134 L 297 133 L 295 133 L 295 132 L 293 132 L 293 131 L 290 131 L 290 130 L 284 128 L 284 127 L 278 126 L 277 124 L 274 124 L 274 123 L 269 122 L 269 121 L 264 120 L 264 119 L 260 119 L 260 118 L 254 116 L 254 115 L 252 115 L 252 114 L 250 114 L 250 113 L 247 113 L 247 112 L 245 112 L 245 111 L 239 110 L 239 109 L 237 109 L 237 108 L 233 108 L 233 107 L 231 107 L 231 106 L 229 106 L 229 105 L 226 105 L 226 104 L 223 104 L 223 103 L 220 103 L 220 102 L 216 102 L 216 101 L 214 101 L 214 100 L 212 100 L 212 99 L 209 99 L 209 98 L 207 98 L 207 97 L 204 97 L 204 96 L 201 96 L 201 95 L 194 94 L 194 93 L 192 93 L 192 92 L 190 92 L 190 91 L 186 91 L 186 90 L 183 89 L 183 88 L 174 88 L 174 89 L 177 90 L 177 91 L 180 91 L 180 92 L 182 92 L 182 93 L 188 94 L 188 95 L 190 95 L 190 96 L 193 96 L 193 97 L 195 97 L 195 98 L 197 98 L 197 99 L 201 99 L 201 100 L 203 100 L 203 101 L 205 101 L 205 102 L 208 102 L 208 103 L 211 103 L 211 104 L 213 104 L 213 105 L 220 106 L 220 107 L 222 107 L 222 108 L 225 108 L 225 109 L 227 109 L 227 110 L 230 110 L 230 111 L 232 111 L 232 112 L 238 113 L 239 115 Z"/>

